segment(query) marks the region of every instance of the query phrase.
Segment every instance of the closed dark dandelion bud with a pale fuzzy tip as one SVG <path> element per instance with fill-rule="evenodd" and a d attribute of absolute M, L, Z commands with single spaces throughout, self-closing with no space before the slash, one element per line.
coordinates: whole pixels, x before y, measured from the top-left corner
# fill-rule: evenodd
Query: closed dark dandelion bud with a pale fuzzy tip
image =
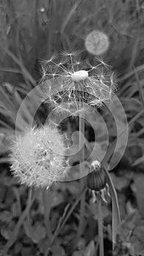
<path fill-rule="evenodd" d="M 99 165 L 98 161 L 94 161 L 91 164 L 91 170 L 91 173 L 89 173 L 87 176 L 88 189 L 99 192 L 106 186 L 105 171 Z"/>

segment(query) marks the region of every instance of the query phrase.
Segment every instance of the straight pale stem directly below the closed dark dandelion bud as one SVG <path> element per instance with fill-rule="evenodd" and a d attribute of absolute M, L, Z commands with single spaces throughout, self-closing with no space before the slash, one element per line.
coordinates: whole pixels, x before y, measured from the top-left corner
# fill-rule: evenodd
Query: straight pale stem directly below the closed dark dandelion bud
<path fill-rule="evenodd" d="M 104 238 L 103 238 L 103 226 L 102 226 L 102 199 L 101 196 L 97 196 L 98 206 L 98 232 L 99 232 L 99 256 L 104 256 Z"/>

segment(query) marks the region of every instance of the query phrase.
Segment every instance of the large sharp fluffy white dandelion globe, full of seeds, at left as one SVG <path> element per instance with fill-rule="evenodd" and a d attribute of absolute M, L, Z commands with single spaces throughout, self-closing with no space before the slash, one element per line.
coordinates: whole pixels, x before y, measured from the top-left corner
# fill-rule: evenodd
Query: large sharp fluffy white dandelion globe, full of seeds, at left
<path fill-rule="evenodd" d="M 58 129 L 28 129 L 11 146 L 12 173 L 20 184 L 48 188 L 67 175 L 66 150 L 64 135 Z"/>

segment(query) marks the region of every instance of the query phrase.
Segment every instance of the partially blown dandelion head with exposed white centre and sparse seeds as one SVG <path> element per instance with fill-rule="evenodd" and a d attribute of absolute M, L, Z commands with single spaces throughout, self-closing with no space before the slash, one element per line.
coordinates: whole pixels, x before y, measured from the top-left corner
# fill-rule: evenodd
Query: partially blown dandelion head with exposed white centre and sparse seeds
<path fill-rule="evenodd" d="M 42 62 L 43 101 L 75 115 L 80 110 L 93 110 L 113 99 L 115 79 L 110 66 L 94 58 L 93 63 L 80 61 L 80 56 L 64 53 Z"/>

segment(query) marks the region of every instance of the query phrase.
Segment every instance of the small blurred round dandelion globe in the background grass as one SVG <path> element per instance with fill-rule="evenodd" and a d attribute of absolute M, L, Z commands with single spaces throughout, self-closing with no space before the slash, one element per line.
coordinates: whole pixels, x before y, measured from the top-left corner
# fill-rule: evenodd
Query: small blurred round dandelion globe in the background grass
<path fill-rule="evenodd" d="M 85 39 L 85 47 L 88 53 L 99 56 L 105 53 L 110 46 L 109 38 L 107 34 L 102 31 L 91 31 Z"/>

